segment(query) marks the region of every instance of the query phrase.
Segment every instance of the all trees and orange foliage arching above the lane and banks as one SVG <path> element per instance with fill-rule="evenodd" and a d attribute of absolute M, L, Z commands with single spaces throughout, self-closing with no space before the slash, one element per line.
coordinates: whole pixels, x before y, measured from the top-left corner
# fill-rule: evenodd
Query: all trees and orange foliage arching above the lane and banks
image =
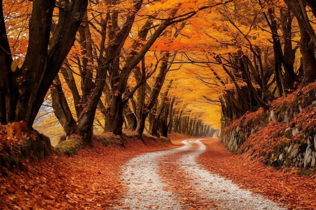
<path fill-rule="evenodd" d="M 93 131 L 212 135 L 316 79 L 309 0 L 1 6 L 1 123 L 48 113 L 88 145 Z"/>

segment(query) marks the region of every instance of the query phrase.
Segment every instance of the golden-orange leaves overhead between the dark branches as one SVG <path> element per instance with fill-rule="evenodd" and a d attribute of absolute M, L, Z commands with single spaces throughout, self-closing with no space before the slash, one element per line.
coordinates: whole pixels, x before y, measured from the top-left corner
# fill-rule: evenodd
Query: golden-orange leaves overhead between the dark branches
<path fill-rule="evenodd" d="M 170 71 L 167 75 L 168 81 L 174 79 L 170 94 L 175 94 L 175 96 L 189 101 L 192 108 L 204 111 L 205 115 L 213 116 L 213 113 L 216 112 L 216 118 L 219 118 L 219 104 L 211 104 L 203 96 L 216 101 L 221 93 L 234 89 L 235 85 L 223 71 L 221 63 L 218 63 L 214 56 L 221 55 L 224 59 L 229 59 L 230 54 L 236 54 L 238 50 L 243 50 L 245 54 L 251 55 L 249 50 L 250 43 L 245 37 L 250 40 L 253 46 L 259 46 L 267 51 L 267 54 L 263 54 L 263 56 L 270 56 L 268 54 L 269 47 L 272 46 L 271 34 L 267 30 L 267 23 L 263 16 L 260 15 L 260 12 L 265 11 L 268 5 L 262 9 L 255 2 L 237 0 L 200 10 L 200 8 L 211 7 L 221 2 L 202 0 L 144 1 L 119 55 L 121 57 L 120 65 L 123 66 L 126 58 L 132 56 L 132 53 L 141 50 L 156 28 L 164 20 L 170 18 L 172 12 L 176 11 L 174 14 L 176 20 L 185 14 L 197 12 L 195 16 L 184 22 L 184 26 L 182 26 L 182 22 L 169 26 L 166 32 L 156 40 L 145 56 L 146 68 L 149 72 L 152 71 L 156 64 L 155 57 L 159 57 L 159 53 L 167 51 L 177 53 L 177 57 L 171 67 L 174 71 Z M 21 64 L 23 52 L 26 51 L 23 48 L 27 46 L 28 41 L 26 34 L 28 32 L 28 18 L 31 13 L 32 3 L 29 1 L 12 2 L 6 0 L 3 4 L 7 8 L 11 7 L 10 11 L 5 10 L 5 17 L 9 25 L 9 40 L 11 46 L 14 46 L 14 54 L 22 56 L 22 58 L 17 58 L 17 64 Z M 63 4 L 63 1 L 60 4 Z M 68 62 L 75 74 L 80 74 L 80 71 L 84 69 L 81 66 L 83 62 L 80 63 L 79 61 L 89 59 L 85 62 L 87 66 L 91 67 L 93 71 L 92 76 L 95 77 L 94 66 L 97 66 L 97 63 L 100 62 L 97 58 L 107 57 L 107 53 L 111 52 L 103 51 L 101 56 L 98 53 L 102 47 L 106 49 L 113 44 L 114 40 L 111 36 L 117 35 L 116 33 L 124 27 L 126 17 L 135 12 L 133 8 L 134 1 L 131 0 L 117 1 L 116 4 L 110 4 L 107 1 L 99 1 L 98 4 L 91 2 L 87 15 L 91 33 L 91 40 L 89 41 L 92 43 L 95 54 L 92 57 L 87 56 L 84 53 L 85 49 L 78 42 L 75 42 L 68 55 L 70 58 Z M 56 9 L 55 14 L 57 12 L 58 9 Z M 113 14 L 114 12 L 119 17 L 117 23 L 109 21 L 108 25 L 106 25 L 107 14 Z M 236 26 L 234 27 L 229 20 L 233 21 Z M 137 33 L 146 21 L 151 22 L 152 25 L 146 39 L 139 40 Z M 116 29 L 110 32 L 113 26 Z M 102 29 L 102 27 L 104 28 Z M 109 33 L 113 34 L 110 36 Z M 178 33 L 177 36 L 174 36 L 176 33 Z M 101 43 L 103 35 L 105 41 Z M 139 44 L 137 47 L 133 46 L 135 40 Z M 249 57 L 253 59 L 251 56 Z M 218 80 L 216 75 L 222 82 Z M 78 76 L 74 77 L 77 84 L 82 82 Z M 241 81 L 237 82 L 241 86 L 244 85 Z M 66 95 L 70 97 L 67 91 Z M 215 106 L 217 107 L 215 108 Z M 217 124 L 219 124 L 219 121 Z"/>

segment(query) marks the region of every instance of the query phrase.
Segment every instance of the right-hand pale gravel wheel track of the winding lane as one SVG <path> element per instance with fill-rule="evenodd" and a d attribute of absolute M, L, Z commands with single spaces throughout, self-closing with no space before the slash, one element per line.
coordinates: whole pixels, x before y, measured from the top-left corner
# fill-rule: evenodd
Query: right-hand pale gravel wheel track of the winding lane
<path fill-rule="evenodd" d="M 193 187 L 199 194 L 212 197 L 219 203 L 221 209 L 287 209 L 259 194 L 239 188 L 231 180 L 205 170 L 196 162 L 196 158 L 206 151 L 205 146 L 200 139 L 195 139 L 183 142 L 184 147 L 189 147 L 190 142 L 198 144 L 198 150 L 182 156 L 177 164 L 196 180 Z"/>

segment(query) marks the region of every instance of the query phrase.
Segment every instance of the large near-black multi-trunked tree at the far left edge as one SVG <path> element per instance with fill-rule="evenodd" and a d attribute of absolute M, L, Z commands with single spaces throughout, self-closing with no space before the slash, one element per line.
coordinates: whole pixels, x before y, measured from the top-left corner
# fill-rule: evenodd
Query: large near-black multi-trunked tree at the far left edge
<path fill-rule="evenodd" d="M 38 0 L 29 19 L 29 43 L 19 68 L 12 59 L 1 1 L 0 18 L 0 121 L 24 120 L 31 127 L 50 84 L 72 47 L 87 7 L 87 0 Z M 54 9 L 58 23 L 52 27 Z M 52 32 L 52 33 L 50 33 Z"/>

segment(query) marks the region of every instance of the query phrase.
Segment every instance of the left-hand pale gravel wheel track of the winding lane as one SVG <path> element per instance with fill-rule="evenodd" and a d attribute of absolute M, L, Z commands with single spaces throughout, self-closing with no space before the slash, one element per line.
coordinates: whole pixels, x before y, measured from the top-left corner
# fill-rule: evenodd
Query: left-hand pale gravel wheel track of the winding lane
<path fill-rule="evenodd" d="M 123 167 L 123 184 L 128 185 L 123 206 L 114 209 L 179 209 L 177 195 L 164 190 L 166 186 L 156 173 L 159 160 L 177 151 L 145 153 L 130 160 Z"/>

